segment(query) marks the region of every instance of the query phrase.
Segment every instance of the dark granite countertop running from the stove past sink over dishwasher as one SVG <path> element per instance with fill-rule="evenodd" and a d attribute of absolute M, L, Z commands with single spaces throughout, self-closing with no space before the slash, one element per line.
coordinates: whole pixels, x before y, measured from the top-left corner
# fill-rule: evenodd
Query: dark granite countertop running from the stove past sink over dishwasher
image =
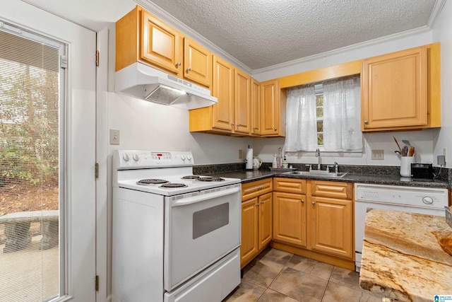
<path fill-rule="evenodd" d="M 328 180 L 336 182 L 357 182 L 375 185 L 398 185 L 407 187 L 437 187 L 448 188 L 448 183 L 434 180 L 434 181 L 413 181 L 411 178 L 401 178 L 398 175 L 367 175 L 367 174 L 354 174 L 348 173 L 343 178 L 328 178 L 328 177 L 315 177 L 305 175 L 287 175 L 284 173 L 275 173 L 270 170 L 237 170 L 237 171 L 224 171 L 217 173 L 209 173 L 209 175 L 215 175 L 225 178 L 239 178 L 242 183 L 254 182 L 256 180 L 262 180 L 266 178 L 296 178 L 304 180 Z"/>

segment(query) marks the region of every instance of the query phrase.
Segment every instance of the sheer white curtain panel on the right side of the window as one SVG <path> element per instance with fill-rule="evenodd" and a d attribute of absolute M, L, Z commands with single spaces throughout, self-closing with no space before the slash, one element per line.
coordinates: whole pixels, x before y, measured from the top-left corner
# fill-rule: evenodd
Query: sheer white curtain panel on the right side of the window
<path fill-rule="evenodd" d="M 325 151 L 362 151 L 359 77 L 323 83 Z"/>

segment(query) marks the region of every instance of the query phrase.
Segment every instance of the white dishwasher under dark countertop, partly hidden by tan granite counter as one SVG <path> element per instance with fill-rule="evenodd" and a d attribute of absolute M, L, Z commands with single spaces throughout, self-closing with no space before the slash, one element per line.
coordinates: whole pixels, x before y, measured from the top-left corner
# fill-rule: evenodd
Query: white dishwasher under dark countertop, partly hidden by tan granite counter
<path fill-rule="evenodd" d="M 445 216 L 447 205 L 447 189 L 355 183 L 355 270 L 361 267 L 368 208 Z"/>

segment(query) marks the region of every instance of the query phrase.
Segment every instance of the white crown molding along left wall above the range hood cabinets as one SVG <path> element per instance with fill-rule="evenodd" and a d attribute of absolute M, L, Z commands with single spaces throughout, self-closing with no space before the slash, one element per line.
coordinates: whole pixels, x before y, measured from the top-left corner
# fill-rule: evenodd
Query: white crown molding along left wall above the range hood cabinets
<path fill-rule="evenodd" d="M 184 35 L 187 35 L 190 37 L 190 39 L 195 40 L 199 44 L 203 45 L 203 47 L 206 47 L 210 52 L 213 52 L 214 54 L 217 54 L 218 56 L 222 57 L 222 59 L 225 59 L 227 62 L 230 62 L 232 65 L 236 66 L 239 69 L 242 69 L 242 71 L 246 72 L 247 74 L 252 74 L 253 70 L 250 69 L 248 66 L 240 62 L 238 59 L 232 57 L 230 54 L 222 50 L 220 47 L 215 45 L 213 42 L 210 42 L 205 37 L 197 33 L 195 30 L 189 28 L 189 26 L 182 23 L 182 21 L 179 21 L 179 19 L 174 18 L 174 16 L 170 15 L 166 11 L 164 11 L 160 6 L 157 6 L 152 1 L 149 0 L 134 0 L 138 5 L 142 6 L 146 10 L 153 13 L 157 18 L 162 19 L 165 23 L 168 25 L 171 25 L 173 28 L 179 30 L 180 32 L 184 33 Z"/>

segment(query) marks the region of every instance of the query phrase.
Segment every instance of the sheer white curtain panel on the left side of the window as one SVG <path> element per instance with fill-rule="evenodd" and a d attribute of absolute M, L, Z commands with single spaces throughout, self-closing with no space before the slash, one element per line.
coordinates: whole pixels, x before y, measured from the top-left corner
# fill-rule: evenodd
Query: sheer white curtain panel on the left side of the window
<path fill-rule="evenodd" d="M 316 94 L 314 85 L 287 90 L 284 151 L 316 151 Z"/>

